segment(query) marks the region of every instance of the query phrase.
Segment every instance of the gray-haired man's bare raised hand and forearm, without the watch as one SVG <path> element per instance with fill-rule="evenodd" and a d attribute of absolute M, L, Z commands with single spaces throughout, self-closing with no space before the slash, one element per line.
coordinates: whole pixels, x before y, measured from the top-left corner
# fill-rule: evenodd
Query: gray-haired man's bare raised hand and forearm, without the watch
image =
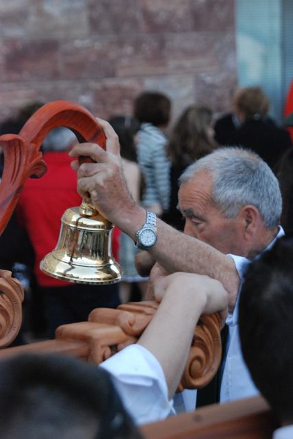
<path fill-rule="evenodd" d="M 94 163 L 72 163 L 77 171 L 77 190 L 83 197 L 90 193 L 94 206 L 107 219 L 136 240 L 136 232 L 146 219 L 146 211 L 131 197 L 119 153 L 118 136 L 109 123 L 98 119 L 107 138 L 106 150 L 94 143 L 79 143 L 72 157 L 90 156 Z M 233 260 L 212 246 L 199 241 L 157 219 L 157 242 L 149 250 L 153 259 L 168 272 L 207 274 L 224 285 L 229 301 L 235 302 L 239 276 Z"/>

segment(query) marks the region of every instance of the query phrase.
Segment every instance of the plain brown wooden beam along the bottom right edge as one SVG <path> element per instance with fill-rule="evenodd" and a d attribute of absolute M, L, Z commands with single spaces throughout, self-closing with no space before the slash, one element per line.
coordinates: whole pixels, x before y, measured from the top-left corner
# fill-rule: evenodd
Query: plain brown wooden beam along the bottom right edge
<path fill-rule="evenodd" d="M 142 426 L 145 439 L 271 439 L 278 421 L 262 396 L 213 404 Z"/>

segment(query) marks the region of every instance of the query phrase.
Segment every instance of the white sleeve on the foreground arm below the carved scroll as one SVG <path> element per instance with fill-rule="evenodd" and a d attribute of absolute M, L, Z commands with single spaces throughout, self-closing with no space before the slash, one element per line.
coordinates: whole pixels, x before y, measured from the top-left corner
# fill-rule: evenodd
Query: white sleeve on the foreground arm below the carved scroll
<path fill-rule="evenodd" d="M 131 344 L 99 367 L 112 375 L 123 404 L 137 424 L 152 423 L 175 414 L 173 400 L 159 361 L 139 344 Z"/>

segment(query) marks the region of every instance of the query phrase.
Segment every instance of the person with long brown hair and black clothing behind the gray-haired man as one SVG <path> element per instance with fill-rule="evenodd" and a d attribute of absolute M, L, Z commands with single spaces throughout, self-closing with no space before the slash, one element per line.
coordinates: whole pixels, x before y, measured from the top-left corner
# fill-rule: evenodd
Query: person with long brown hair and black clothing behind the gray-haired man
<path fill-rule="evenodd" d="M 209 154 L 218 145 L 214 141 L 212 110 L 206 107 L 189 106 L 183 111 L 173 128 L 166 145 L 170 159 L 170 207 L 162 215 L 164 222 L 183 230 L 184 222 L 177 209 L 178 178 L 188 165 Z"/>

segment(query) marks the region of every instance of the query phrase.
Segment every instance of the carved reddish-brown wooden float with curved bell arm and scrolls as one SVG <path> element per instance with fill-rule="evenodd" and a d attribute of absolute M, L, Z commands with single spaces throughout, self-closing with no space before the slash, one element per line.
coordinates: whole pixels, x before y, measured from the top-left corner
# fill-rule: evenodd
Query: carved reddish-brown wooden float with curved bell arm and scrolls
<path fill-rule="evenodd" d="M 47 133 L 65 126 L 79 139 L 105 146 L 105 135 L 88 110 L 66 101 L 51 102 L 42 106 L 25 123 L 21 132 L 0 137 L 4 152 L 4 171 L 0 185 L 0 231 L 3 231 L 16 206 L 21 189 L 29 176 L 41 177 L 47 167 L 39 151 Z M 0 273 L 0 347 L 14 340 L 21 327 L 21 286 L 8 274 Z M 9 279 L 9 280 L 8 280 Z M 95 364 L 135 343 L 157 309 L 156 302 L 137 302 L 121 305 L 118 309 L 95 309 L 88 322 L 64 325 L 56 331 L 56 340 L 28 346 L 6 348 L 0 358 L 23 351 L 69 353 L 88 359 Z M 186 370 L 180 389 L 206 385 L 220 364 L 220 317 L 218 314 L 202 316 L 194 331 Z"/>

